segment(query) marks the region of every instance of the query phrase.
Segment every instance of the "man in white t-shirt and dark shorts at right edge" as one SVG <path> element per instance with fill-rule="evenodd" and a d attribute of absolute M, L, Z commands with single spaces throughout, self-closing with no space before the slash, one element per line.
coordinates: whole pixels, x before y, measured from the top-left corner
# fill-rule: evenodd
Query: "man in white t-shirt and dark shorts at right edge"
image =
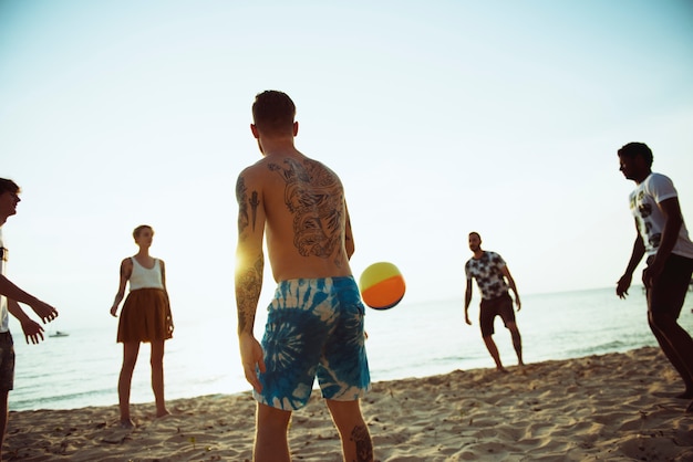
<path fill-rule="evenodd" d="M 693 242 L 683 222 L 679 197 L 671 179 L 652 172 L 652 150 L 629 143 L 618 151 L 620 170 L 635 182 L 630 208 L 635 218 L 635 243 L 616 293 L 628 295 L 633 271 L 648 255 L 642 282 L 648 294 L 648 321 L 662 351 L 685 384 L 681 399 L 693 398 L 693 339 L 679 325 L 693 274 Z M 693 412 L 693 402 L 686 412 Z"/>

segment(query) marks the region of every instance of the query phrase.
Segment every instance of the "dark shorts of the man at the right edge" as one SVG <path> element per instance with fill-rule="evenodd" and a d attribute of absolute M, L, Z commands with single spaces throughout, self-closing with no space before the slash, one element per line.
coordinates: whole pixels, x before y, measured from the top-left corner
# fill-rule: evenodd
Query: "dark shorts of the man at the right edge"
<path fill-rule="evenodd" d="M 648 263 L 653 258 L 648 259 Z M 693 259 L 672 253 L 660 277 L 648 288 L 648 311 L 679 318 L 693 274 Z"/>

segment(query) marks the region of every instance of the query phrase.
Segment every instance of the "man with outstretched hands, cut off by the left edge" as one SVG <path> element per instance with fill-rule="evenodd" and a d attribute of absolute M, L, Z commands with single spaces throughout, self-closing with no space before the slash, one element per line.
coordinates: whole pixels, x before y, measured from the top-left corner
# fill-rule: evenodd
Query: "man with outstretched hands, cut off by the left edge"
<path fill-rule="evenodd" d="M 22 291 L 4 275 L 9 252 L 2 240 L 2 225 L 8 217 L 17 213 L 19 192 L 19 186 L 14 181 L 0 178 L 0 459 L 8 422 L 8 397 L 14 386 L 14 347 L 9 328 L 9 314 L 19 319 L 27 343 L 31 339 L 32 344 L 43 339 L 43 327 L 31 319 L 19 303 L 31 306 L 44 324 L 58 316 L 55 308 Z"/>

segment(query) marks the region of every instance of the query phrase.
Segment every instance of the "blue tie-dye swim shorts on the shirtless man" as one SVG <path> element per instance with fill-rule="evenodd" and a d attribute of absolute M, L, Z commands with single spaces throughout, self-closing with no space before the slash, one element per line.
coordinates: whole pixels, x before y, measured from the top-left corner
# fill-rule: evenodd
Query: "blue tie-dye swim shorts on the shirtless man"
<path fill-rule="evenodd" d="M 353 401 L 371 388 L 359 287 L 353 277 L 282 281 L 268 308 L 259 402 L 283 410 L 308 402 L 318 377 L 323 398 Z"/>

